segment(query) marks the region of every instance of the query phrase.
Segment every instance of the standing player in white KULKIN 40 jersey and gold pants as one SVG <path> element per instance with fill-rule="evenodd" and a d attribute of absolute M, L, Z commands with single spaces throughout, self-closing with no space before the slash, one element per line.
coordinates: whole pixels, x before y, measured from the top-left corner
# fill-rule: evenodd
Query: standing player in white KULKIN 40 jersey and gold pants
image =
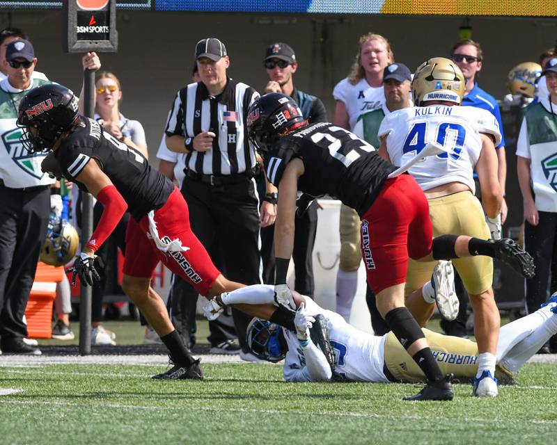
<path fill-rule="evenodd" d="M 485 110 L 459 106 L 464 95 L 464 76 L 451 60 L 432 58 L 423 63 L 412 81 L 416 106 L 386 116 L 379 128 L 379 155 L 403 165 L 429 142 L 451 149 L 449 154 L 430 156 L 416 163 L 409 173 L 427 196 L 434 236 L 469 234 L 488 239 L 500 237 L 501 187 L 497 179 L 494 146 L 501 140 L 496 119 Z M 474 196 L 473 171 L 478 173 L 483 207 Z M 483 210 L 487 213 L 487 223 Z M 454 265 L 469 293 L 475 316 L 479 366 L 473 393 L 496 396 L 494 378 L 496 348 L 501 326 L 492 290 L 493 263 L 485 257 L 455 259 Z M 435 262 L 410 261 L 407 295 L 418 289 L 432 273 Z M 407 306 L 418 323 L 425 325 L 432 314 L 432 301 L 409 298 Z"/>

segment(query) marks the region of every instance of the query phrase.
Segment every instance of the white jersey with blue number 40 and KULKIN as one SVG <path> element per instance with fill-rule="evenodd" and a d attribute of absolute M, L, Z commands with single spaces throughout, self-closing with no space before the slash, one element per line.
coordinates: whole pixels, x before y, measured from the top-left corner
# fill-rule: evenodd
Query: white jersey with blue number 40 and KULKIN
<path fill-rule="evenodd" d="M 480 133 L 501 141 L 499 124 L 492 113 L 474 106 L 416 106 L 387 115 L 379 127 L 379 138 L 386 138 L 391 162 L 404 165 L 427 143 L 437 143 L 449 152 L 428 156 L 413 165 L 409 173 L 422 190 L 461 182 L 476 191 L 473 170 L 480 157 Z"/>

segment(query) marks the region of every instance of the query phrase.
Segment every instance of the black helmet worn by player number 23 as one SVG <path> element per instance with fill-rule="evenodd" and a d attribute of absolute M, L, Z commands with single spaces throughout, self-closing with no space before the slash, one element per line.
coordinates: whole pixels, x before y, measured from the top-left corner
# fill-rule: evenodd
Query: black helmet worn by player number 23
<path fill-rule="evenodd" d="M 267 152 L 278 138 L 306 124 L 294 99 L 279 92 L 259 97 L 248 110 L 248 137 L 260 152 Z"/>

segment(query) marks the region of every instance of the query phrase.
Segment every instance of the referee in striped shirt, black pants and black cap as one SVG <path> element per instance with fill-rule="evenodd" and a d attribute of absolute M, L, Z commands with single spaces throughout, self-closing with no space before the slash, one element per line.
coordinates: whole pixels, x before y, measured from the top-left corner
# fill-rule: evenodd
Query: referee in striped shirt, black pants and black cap
<path fill-rule="evenodd" d="M 260 200 L 254 176 L 259 167 L 249 144 L 246 115 L 258 92 L 227 76 L 230 58 L 223 42 L 206 38 L 196 44 L 201 81 L 178 91 L 166 124 L 166 146 L 186 153 L 182 194 L 189 207 L 191 229 L 223 262 L 230 280 L 260 283 L 259 229 L 274 223 L 276 188 L 267 184 Z M 182 298 L 197 298 L 189 286 Z M 233 309 L 235 327 L 249 359 L 246 327 L 251 317 Z M 217 346 L 213 332 L 209 337 Z"/>

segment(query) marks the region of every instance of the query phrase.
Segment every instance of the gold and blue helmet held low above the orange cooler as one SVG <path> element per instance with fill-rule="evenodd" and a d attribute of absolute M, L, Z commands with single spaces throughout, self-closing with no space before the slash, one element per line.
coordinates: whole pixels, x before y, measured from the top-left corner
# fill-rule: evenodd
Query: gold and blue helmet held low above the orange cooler
<path fill-rule="evenodd" d="M 40 251 L 40 261 L 50 266 L 63 266 L 71 261 L 79 247 L 79 235 L 68 221 L 49 224 L 47 240 Z"/>

